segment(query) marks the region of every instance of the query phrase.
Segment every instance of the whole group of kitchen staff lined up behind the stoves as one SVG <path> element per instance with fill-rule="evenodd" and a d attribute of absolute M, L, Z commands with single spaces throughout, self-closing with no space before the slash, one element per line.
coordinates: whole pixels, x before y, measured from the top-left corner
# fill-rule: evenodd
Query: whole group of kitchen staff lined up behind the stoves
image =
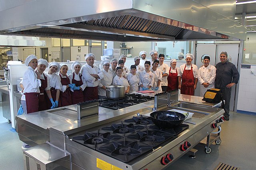
<path fill-rule="evenodd" d="M 220 54 L 220 63 L 212 66 L 210 57 L 204 56 L 204 65 L 198 69 L 192 64 L 194 56 L 186 54 L 186 63 L 176 67 L 176 59 L 170 60 L 170 67 L 164 63 L 164 55 L 150 51 L 151 59 L 146 59 L 146 51 L 134 57 L 134 64 L 126 66 L 126 56 L 119 60 L 101 61 L 101 69 L 94 64 L 95 56 L 88 53 L 83 66 L 79 61 L 71 65 L 74 71 L 67 75 L 68 65 L 49 63 L 30 55 L 25 64 L 28 69 L 20 84 L 23 91 L 22 106 L 26 113 L 68 106 L 88 100 L 106 98 L 106 87 L 123 85 L 125 93 L 143 90 L 166 92 L 180 89 L 181 94 L 194 95 L 197 82 L 200 96 L 209 88 L 219 88 L 226 101 L 225 116 L 229 116 L 231 87 L 238 83 L 239 73 L 234 64 L 227 61 L 227 53 Z M 48 71 L 45 72 L 46 67 Z"/>

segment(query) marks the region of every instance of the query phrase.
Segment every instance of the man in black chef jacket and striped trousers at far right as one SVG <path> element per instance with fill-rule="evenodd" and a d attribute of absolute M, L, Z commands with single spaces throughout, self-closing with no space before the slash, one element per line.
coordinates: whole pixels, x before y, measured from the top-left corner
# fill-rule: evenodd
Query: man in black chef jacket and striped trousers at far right
<path fill-rule="evenodd" d="M 239 72 L 236 66 L 228 61 L 228 53 L 220 53 L 220 63 L 216 64 L 215 87 L 221 90 L 222 98 L 225 100 L 224 117 L 229 120 L 229 104 L 231 87 L 238 83 Z"/>

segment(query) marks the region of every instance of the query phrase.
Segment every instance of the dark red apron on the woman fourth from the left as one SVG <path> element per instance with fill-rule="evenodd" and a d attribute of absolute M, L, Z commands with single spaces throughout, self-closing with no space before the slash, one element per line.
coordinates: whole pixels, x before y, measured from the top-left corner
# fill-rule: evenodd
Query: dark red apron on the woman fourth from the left
<path fill-rule="evenodd" d="M 66 75 L 66 78 L 62 78 L 61 74 L 60 74 L 60 82 L 62 84 L 62 86 L 66 86 L 68 84 L 70 84 L 69 78 Z M 70 94 L 70 89 L 66 89 L 65 92 L 60 92 L 60 101 L 61 101 L 61 106 L 69 106 L 72 105 L 72 98 L 71 98 L 71 94 Z"/>

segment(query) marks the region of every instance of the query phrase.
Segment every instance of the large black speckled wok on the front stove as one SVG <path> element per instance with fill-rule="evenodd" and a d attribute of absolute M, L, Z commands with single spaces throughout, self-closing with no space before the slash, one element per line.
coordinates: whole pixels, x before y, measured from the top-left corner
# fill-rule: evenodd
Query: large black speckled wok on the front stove
<path fill-rule="evenodd" d="M 150 113 L 150 117 L 152 117 L 152 121 L 158 127 L 172 129 L 173 127 L 180 126 L 188 117 L 188 113 L 185 116 L 176 111 L 154 111 Z"/>

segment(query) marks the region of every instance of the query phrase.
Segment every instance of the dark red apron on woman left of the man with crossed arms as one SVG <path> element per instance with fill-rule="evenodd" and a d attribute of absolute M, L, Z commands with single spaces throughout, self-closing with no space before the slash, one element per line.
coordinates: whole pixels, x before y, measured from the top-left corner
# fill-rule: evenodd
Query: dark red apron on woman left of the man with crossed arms
<path fill-rule="evenodd" d="M 80 81 L 75 80 L 75 72 L 73 72 L 73 78 L 72 78 L 72 84 L 76 84 L 76 87 L 82 86 L 82 75 L 79 76 Z M 84 102 L 84 92 L 83 90 L 74 90 L 74 92 L 71 92 L 72 96 L 72 104 L 78 104 L 79 102 Z"/>

